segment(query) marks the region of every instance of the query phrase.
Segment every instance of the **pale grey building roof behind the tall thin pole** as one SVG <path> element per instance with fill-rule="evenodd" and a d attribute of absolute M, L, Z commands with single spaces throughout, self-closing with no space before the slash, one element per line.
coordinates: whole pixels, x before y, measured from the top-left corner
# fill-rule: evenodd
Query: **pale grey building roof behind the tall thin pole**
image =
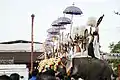
<path fill-rule="evenodd" d="M 34 52 L 43 52 L 44 47 L 40 42 L 33 43 Z M 16 40 L 0 42 L 0 52 L 31 52 L 31 41 Z"/>

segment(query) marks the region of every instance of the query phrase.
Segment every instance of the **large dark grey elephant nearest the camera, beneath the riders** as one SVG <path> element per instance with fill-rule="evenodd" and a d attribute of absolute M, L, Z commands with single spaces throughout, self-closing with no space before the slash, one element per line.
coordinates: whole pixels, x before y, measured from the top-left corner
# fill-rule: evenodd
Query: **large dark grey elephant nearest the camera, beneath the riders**
<path fill-rule="evenodd" d="M 62 62 L 67 65 L 70 61 L 65 58 Z M 69 76 L 78 80 L 82 78 L 84 80 L 111 80 L 113 70 L 106 61 L 95 59 L 91 57 L 73 58 L 72 68 Z M 66 67 L 67 69 L 67 67 Z"/>

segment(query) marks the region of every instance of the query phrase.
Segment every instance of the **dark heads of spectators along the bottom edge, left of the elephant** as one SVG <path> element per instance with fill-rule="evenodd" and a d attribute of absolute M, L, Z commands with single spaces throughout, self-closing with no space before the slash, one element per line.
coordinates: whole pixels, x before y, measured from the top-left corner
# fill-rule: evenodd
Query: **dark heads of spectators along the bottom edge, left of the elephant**
<path fill-rule="evenodd" d="M 29 74 L 28 80 L 58 80 L 56 78 L 54 70 L 48 70 L 45 72 L 38 72 L 38 70 L 34 70 L 32 74 Z M 10 76 L 1 75 L 0 80 L 25 80 L 23 76 L 20 76 L 17 73 L 13 73 Z"/>

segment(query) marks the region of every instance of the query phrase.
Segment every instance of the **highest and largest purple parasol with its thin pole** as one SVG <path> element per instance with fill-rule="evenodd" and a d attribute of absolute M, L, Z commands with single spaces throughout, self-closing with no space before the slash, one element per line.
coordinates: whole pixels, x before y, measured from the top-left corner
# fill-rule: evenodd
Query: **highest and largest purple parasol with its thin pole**
<path fill-rule="evenodd" d="M 71 14 L 71 27 L 70 27 L 70 35 L 71 35 L 71 30 L 72 30 L 72 20 L 73 20 L 73 15 L 81 15 L 83 14 L 83 12 L 81 11 L 80 8 L 78 7 L 75 7 L 74 4 L 73 6 L 69 6 L 67 7 L 64 11 L 63 11 L 64 14 Z"/>

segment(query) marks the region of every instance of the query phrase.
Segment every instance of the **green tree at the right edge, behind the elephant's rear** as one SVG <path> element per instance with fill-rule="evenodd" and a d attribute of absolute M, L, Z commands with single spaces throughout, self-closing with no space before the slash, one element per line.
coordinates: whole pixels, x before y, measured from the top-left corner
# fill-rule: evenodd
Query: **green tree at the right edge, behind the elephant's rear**
<path fill-rule="evenodd" d="M 115 43 L 110 43 L 110 53 L 120 53 L 120 41 L 115 44 Z M 111 59 L 109 60 L 110 63 L 113 63 L 114 71 L 116 74 L 118 74 L 118 65 L 120 64 L 120 59 Z"/>

